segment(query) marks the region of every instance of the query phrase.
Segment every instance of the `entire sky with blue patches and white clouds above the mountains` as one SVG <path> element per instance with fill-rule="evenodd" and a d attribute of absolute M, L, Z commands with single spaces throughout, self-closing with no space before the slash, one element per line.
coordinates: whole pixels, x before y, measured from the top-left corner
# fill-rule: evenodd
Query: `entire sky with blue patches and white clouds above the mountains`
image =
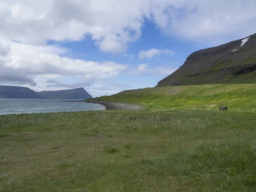
<path fill-rule="evenodd" d="M 256 33 L 255 0 L 0 0 L 0 85 L 154 87 L 200 49 Z"/>

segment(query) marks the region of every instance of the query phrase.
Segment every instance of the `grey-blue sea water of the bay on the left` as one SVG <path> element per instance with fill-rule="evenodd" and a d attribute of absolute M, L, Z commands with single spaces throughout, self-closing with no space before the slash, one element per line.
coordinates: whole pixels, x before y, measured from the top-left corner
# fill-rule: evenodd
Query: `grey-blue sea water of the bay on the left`
<path fill-rule="evenodd" d="M 0 115 L 105 110 L 99 104 L 63 102 L 79 100 L 81 99 L 0 99 Z"/>

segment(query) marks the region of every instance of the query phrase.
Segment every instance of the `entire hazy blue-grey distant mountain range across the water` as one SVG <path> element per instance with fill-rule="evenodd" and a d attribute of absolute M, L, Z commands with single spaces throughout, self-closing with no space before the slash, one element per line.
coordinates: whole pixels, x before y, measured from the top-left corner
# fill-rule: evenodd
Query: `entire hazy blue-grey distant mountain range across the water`
<path fill-rule="evenodd" d="M 0 85 L 0 99 L 88 99 L 84 88 L 35 92 L 28 87 Z"/>

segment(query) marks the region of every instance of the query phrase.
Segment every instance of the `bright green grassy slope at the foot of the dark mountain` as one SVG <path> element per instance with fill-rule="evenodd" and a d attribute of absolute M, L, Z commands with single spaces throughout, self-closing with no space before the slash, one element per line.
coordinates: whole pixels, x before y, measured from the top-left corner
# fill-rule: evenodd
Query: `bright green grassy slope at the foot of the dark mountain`
<path fill-rule="evenodd" d="M 102 101 L 131 102 L 148 108 L 212 108 L 227 104 L 231 111 L 255 111 L 256 84 L 215 84 L 127 90 Z"/>

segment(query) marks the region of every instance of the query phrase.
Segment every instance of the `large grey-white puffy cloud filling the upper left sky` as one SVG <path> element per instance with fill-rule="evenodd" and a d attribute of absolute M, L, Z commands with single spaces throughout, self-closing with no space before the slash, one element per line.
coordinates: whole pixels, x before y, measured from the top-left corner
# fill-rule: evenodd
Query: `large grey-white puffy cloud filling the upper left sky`
<path fill-rule="evenodd" d="M 90 36 L 104 52 L 123 52 L 141 35 L 142 2 L 105 0 L 0 1 L 1 36 L 25 44 L 80 41 Z M 133 10 L 133 7 L 137 10 Z M 141 9 L 141 10 L 140 10 Z"/>

